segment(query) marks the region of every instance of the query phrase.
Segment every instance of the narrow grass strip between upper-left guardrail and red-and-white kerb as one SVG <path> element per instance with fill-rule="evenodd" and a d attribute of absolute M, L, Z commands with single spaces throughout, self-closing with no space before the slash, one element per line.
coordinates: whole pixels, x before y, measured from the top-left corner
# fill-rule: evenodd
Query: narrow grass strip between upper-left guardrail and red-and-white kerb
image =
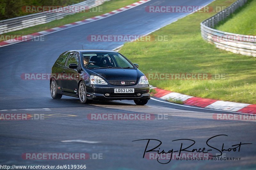
<path fill-rule="evenodd" d="M 28 34 L 36 33 L 39 31 L 44 31 L 44 30 L 51 29 L 51 28 L 54 28 L 57 26 L 63 26 L 65 24 L 70 24 L 72 22 L 81 21 L 81 20 L 84 20 L 87 18 L 92 18 L 92 17 L 98 16 L 98 15 L 102 15 L 107 12 L 114 11 L 114 10 L 122 8 L 124 6 L 133 4 L 135 2 L 138 2 L 138 0 L 111 0 L 111 1 L 105 2 L 100 5 L 100 6 L 102 6 L 102 12 L 76 13 L 73 15 L 68 15 L 59 20 L 54 20 L 54 21 L 46 23 L 46 24 L 41 24 L 41 25 L 25 28 L 22 30 L 18 30 L 18 31 L 4 33 L 3 35 L 28 35 Z"/>

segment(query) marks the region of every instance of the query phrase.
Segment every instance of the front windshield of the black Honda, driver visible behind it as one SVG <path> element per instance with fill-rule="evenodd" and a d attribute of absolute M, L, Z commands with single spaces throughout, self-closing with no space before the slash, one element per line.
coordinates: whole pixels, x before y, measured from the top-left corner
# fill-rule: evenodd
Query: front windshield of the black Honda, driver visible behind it
<path fill-rule="evenodd" d="M 122 55 L 118 53 L 83 53 L 84 67 L 98 68 L 134 68 Z"/>

